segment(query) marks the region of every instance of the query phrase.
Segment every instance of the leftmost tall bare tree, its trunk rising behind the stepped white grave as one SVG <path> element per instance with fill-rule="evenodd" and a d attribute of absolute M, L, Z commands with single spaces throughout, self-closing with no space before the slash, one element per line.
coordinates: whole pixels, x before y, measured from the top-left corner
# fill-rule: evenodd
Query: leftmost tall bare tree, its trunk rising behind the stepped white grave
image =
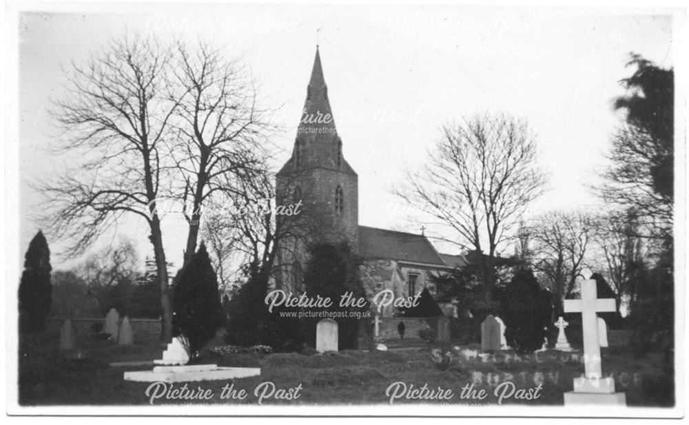
<path fill-rule="evenodd" d="M 58 152 L 73 167 L 43 183 L 47 219 L 57 236 L 74 241 L 79 253 L 120 222 L 145 220 L 150 228 L 163 320 L 161 338 L 171 338 L 172 309 L 156 211 L 165 165 L 165 141 L 176 102 L 169 99 L 169 50 L 152 39 L 110 41 L 85 63 L 68 70 L 68 94 L 52 115 L 63 129 Z"/>

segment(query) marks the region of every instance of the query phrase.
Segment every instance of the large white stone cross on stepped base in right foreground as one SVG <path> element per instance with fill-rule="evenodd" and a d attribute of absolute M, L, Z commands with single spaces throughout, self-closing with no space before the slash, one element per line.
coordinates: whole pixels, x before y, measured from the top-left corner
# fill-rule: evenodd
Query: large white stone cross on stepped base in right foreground
<path fill-rule="evenodd" d="M 581 300 L 564 300 L 566 313 L 582 313 L 584 331 L 585 377 L 574 378 L 574 391 L 564 393 L 564 404 L 604 404 L 606 406 L 626 405 L 625 393 L 615 393 L 615 380 L 603 377 L 601 371 L 601 347 L 598 337 L 597 312 L 616 311 L 613 298 L 596 297 L 596 281 L 582 282 Z"/>

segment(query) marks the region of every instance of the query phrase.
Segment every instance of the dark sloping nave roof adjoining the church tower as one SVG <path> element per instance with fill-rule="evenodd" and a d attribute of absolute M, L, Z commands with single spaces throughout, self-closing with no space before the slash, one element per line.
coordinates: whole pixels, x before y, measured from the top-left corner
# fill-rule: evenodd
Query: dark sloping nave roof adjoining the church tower
<path fill-rule="evenodd" d="M 364 258 L 389 258 L 446 266 L 424 235 L 359 226 L 359 253 Z"/>

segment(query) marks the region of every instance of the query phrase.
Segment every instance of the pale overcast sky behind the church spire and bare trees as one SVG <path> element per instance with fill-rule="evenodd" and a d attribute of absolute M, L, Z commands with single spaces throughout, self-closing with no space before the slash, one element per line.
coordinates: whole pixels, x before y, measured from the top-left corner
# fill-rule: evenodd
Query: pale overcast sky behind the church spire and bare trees
<path fill-rule="evenodd" d="M 475 112 L 526 118 L 537 134 L 549 191 L 531 214 L 594 207 L 586 188 L 604 165 L 619 120 L 612 108 L 630 52 L 672 66 L 672 21 L 662 14 L 602 9 L 424 6 L 77 6 L 83 12 L 23 14 L 19 25 L 21 251 L 38 230 L 27 183 L 60 164 L 45 147 L 49 100 L 63 96 L 61 67 L 97 52 L 125 30 L 203 39 L 240 57 L 279 107 L 289 156 L 316 43 L 345 158 L 359 175 L 359 222 L 404 229 L 390 194 L 419 166 L 438 127 Z M 661 12 L 661 11 L 656 11 Z M 320 31 L 317 31 L 320 28 Z M 318 32 L 318 35 L 317 35 Z M 75 158 L 76 160 L 78 158 Z M 418 232 L 419 229 L 407 228 Z M 146 241 L 127 222 L 120 231 Z M 181 262 L 185 233 L 166 229 L 169 260 Z M 51 240 L 59 254 L 61 242 Z M 109 243 L 103 241 L 101 243 Z M 141 256 L 150 255 L 142 242 Z M 67 265 L 54 256 L 54 269 Z"/>

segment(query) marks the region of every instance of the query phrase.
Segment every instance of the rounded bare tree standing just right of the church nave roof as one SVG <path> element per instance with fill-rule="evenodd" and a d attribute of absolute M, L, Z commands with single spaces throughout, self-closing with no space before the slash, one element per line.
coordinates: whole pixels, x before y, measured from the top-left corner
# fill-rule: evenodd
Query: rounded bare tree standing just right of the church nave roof
<path fill-rule="evenodd" d="M 428 214 L 428 224 L 456 235 L 437 236 L 440 240 L 483 254 L 477 258 L 490 301 L 498 248 L 543 191 L 535 138 L 526 122 L 485 115 L 444 125 L 428 165 L 411 172 L 408 182 L 397 194 Z"/>

